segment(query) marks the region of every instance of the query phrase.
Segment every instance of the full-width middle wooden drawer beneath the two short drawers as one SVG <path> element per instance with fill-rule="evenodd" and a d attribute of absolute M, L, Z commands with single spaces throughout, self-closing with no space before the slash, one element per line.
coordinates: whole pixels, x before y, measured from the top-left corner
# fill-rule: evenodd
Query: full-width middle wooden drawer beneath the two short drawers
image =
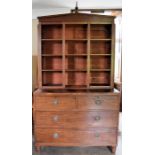
<path fill-rule="evenodd" d="M 117 111 L 87 112 L 39 112 L 36 111 L 36 126 L 52 128 L 116 128 L 118 126 Z"/>

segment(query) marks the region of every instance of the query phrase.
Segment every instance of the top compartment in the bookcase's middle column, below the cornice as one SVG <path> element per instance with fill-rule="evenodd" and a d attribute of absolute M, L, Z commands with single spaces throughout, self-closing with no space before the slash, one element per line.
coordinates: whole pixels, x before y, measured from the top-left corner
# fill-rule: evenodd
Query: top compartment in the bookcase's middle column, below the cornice
<path fill-rule="evenodd" d="M 67 24 L 65 29 L 66 39 L 86 39 L 87 24 Z"/>

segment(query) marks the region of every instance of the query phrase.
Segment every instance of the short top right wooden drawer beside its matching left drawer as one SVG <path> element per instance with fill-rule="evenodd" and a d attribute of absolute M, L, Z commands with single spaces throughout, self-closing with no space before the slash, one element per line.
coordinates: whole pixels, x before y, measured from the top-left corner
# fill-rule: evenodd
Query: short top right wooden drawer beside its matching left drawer
<path fill-rule="evenodd" d="M 77 96 L 77 106 L 80 110 L 102 109 L 102 110 L 119 110 L 118 96 Z"/>

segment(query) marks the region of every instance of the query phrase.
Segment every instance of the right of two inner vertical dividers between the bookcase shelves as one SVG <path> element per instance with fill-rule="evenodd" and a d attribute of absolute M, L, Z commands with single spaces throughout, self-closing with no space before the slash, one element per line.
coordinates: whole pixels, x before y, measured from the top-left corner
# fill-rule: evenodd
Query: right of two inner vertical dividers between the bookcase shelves
<path fill-rule="evenodd" d="M 87 27 L 87 88 L 90 86 L 90 23 Z"/>

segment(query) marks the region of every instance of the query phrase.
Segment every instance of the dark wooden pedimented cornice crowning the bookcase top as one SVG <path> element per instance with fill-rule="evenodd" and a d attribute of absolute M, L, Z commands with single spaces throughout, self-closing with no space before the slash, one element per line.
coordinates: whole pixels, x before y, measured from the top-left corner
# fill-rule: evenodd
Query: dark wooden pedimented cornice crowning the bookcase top
<path fill-rule="evenodd" d="M 113 16 L 96 15 L 96 14 L 84 14 L 84 13 L 67 13 L 50 16 L 38 17 L 41 23 L 63 23 L 63 22 L 93 22 L 98 23 L 113 23 Z"/>

